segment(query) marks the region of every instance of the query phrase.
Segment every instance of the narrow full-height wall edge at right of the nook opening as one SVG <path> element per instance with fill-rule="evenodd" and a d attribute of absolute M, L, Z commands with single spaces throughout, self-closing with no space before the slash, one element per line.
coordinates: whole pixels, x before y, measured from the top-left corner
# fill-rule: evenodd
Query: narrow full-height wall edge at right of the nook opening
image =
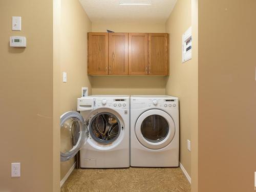
<path fill-rule="evenodd" d="M 193 65 L 195 68 L 198 68 L 198 0 L 191 0 L 191 19 L 192 19 L 192 36 L 193 36 L 193 52 L 192 57 Z M 194 95 L 194 111 L 193 117 L 194 119 L 191 119 L 192 125 L 191 126 L 191 191 L 192 192 L 198 192 L 198 69 L 193 70 L 194 75 L 197 77 L 197 86 L 193 84 L 194 89 L 197 91 L 197 93 L 193 92 Z M 194 76 L 195 78 L 195 76 Z M 195 83 L 195 82 L 194 82 Z M 197 106 L 195 106 L 197 105 Z"/>

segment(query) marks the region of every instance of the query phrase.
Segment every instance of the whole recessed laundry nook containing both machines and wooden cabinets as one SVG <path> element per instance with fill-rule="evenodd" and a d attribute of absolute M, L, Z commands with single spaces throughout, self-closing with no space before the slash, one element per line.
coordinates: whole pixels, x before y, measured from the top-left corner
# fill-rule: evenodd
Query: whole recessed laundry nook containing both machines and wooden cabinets
<path fill-rule="evenodd" d="M 193 1 L 59 3 L 61 191 L 190 191 Z"/>

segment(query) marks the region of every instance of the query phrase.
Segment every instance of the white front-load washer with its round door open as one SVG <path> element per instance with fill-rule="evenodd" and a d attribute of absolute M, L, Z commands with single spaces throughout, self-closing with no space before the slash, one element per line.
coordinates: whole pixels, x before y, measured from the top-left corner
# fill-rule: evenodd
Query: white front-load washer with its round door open
<path fill-rule="evenodd" d="M 62 115 L 62 133 L 66 131 L 66 137 L 73 141 L 61 149 L 61 160 L 70 159 L 80 150 L 80 167 L 129 167 L 130 96 L 81 97 L 77 99 L 77 111 L 80 114 Z"/>

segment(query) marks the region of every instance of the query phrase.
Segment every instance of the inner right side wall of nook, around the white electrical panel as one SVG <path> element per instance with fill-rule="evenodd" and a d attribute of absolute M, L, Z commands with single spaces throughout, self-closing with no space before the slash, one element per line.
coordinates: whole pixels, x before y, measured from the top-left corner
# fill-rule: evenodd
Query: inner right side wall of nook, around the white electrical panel
<path fill-rule="evenodd" d="M 166 22 L 170 35 L 170 76 L 167 77 L 166 94 L 180 99 L 180 162 L 191 176 L 191 153 L 187 139 L 197 127 L 198 65 L 196 57 L 182 63 L 182 34 L 191 26 L 191 0 L 177 1 Z M 191 141 L 193 146 L 193 141 Z"/>

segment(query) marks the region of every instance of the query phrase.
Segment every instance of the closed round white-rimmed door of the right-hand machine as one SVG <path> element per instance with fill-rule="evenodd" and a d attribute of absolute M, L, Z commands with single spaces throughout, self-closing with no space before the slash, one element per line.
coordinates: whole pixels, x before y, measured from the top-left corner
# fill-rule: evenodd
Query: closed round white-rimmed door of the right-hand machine
<path fill-rule="evenodd" d="M 135 133 L 142 145 L 157 150 L 173 140 L 175 123 L 173 118 L 162 110 L 148 110 L 139 116 Z"/>

